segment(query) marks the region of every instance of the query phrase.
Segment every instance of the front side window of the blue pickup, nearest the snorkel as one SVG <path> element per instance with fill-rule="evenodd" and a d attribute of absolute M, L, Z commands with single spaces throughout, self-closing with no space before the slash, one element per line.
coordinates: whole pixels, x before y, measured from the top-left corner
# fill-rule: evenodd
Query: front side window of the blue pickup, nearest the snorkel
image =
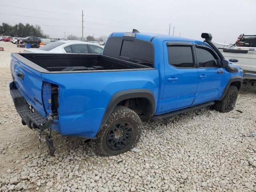
<path fill-rule="evenodd" d="M 217 67 L 215 54 L 207 49 L 196 48 L 196 59 L 199 67 Z"/>

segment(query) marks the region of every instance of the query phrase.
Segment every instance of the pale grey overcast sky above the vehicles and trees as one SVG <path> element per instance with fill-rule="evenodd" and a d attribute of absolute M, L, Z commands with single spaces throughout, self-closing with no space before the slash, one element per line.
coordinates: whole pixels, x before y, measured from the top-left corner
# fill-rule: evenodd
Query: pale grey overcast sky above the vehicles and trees
<path fill-rule="evenodd" d="M 38 24 L 53 38 L 64 37 L 64 32 L 66 36 L 82 36 L 82 10 L 84 37 L 131 32 L 132 28 L 168 34 L 170 23 L 170 34 L 175 26 L 175 36 L 181 33 L 182 37 L 202 40 L 201 33 L 209 32 L 214 42 L 221 43 L 234 43 L 242 33 L 256 34 L 256 0 L 1 0 L 0 5 L 7 5 L 0 6 L 0 23 Z"/>

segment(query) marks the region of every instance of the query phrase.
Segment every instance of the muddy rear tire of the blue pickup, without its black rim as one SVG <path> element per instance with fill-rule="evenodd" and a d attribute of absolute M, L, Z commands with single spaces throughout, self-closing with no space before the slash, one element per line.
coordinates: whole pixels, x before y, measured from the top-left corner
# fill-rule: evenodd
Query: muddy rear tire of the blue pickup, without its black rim
<path fill-rule="evenodd" d="M 128 142 L 124 148 L 121 150 L 112 150 L 108 146 L 109 144 L 107 144 L 107 138 L 109 138 L 110 130 L 119 122 L 129 122 L 133 132 L 130 137 L 130 142 Z M 112 156 L 127 152 L 133 148 L 140 139 L 141 126 L 142 122 L 140 117 L 133 110 L 124 106 L 116 106 L 108 117 L 108 120 L 100 128 L 96 139 L 92 141 L 93 151 L 100 156 Z"/>

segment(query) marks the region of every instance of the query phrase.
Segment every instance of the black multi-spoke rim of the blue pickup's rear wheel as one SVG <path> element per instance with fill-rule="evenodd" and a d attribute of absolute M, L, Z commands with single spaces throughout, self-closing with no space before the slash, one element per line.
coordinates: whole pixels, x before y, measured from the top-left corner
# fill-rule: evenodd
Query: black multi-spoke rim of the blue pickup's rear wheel
<path fill-rule="evenodd" d="M 110 150 L 122 150 L 131 141 L 134 128 L 127 121 L 121 121 L 112 126 L 107 134 L 106 143 Z"/>

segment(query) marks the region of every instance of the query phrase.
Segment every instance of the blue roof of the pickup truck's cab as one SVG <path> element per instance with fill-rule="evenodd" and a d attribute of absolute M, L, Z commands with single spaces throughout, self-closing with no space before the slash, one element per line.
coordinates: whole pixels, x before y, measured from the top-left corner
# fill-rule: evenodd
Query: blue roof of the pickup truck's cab
<path fill-rule="evenodd" d="M 124 36 L 126 32 L 114 32 L 110 34 L 109 37 L 122 37 Z M 189 41 L 189 42 L 197 42 L 197 43 L 203 43 L 202 41 L 199 40 L 193 40 L 193 39 L 188 39 L 188 38 L 183 38 L 183 37 L 177 37 L 177 36 L 170 36 L 170 35 L 164 35 L 164 34 L 157 34 L 157 33 L 132 33 L 132 32 L 127 32 L 128 34 L 135 34 L 136 39 L 140 40 L 145 40 L 145 41 Z"/>

